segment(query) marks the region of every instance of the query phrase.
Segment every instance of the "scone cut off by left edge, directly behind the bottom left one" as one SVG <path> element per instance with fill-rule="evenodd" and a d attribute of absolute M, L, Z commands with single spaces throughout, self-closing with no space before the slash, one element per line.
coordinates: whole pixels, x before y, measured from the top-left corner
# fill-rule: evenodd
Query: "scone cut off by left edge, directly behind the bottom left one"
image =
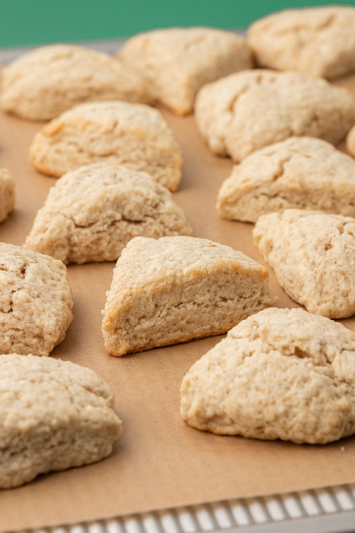
<path fill-rule="evenodd" d="M 0 243 L 0 353 L 48 356 L 64 340 L 72 306 L 61 261 Z"/>

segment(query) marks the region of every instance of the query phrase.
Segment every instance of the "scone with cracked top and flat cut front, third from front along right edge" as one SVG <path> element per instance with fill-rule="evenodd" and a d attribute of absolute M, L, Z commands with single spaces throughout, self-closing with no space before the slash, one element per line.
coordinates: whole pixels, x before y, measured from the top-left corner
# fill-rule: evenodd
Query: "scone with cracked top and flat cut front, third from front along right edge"
<path fill-rule="evenodd" d="M 221 217 L 256 222 L 288 208 L 355 217 L 355 161 L 333 144 L 290 137 L 235 165 L 217 198 Z"/>

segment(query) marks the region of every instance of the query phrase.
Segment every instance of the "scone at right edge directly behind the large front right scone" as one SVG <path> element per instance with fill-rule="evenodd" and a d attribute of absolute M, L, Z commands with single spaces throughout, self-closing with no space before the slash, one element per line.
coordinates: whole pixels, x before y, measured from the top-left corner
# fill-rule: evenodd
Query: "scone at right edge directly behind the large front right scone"
<path fill-rule="evenodd" d="M 355 314 L 355 219 L 286 209 L 260 216 L 253 240 L 288 296 L 310 313 Z"/>

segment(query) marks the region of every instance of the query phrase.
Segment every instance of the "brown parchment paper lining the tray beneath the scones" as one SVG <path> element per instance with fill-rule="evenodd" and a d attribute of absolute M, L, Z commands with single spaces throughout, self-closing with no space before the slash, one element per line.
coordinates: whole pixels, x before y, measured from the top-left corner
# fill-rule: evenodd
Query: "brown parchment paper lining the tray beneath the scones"
<path fill-rule="evenodd" d="M 355 77 L 339 84 L 354 88 Z M 176 202 L 194 236 L 233 246 L 262 263 L 251 224 L 220 220 L 218 188 L 232 163 L 204 146 L 193 117 L 164 111 L 183 149 L 183 180 Z M 37 209 L 55 180 L 31 168 L 28 147 L 42 124 L 0 114 L 0 166 L 16 180 L 15 212 L 0 225 L 0 240 L 23 244 Z M 72 265 L 74 319 L 52 357 L 93 368 L 112 387 L 124 431 L 104 461 L 44 475 L 0 491 L 0 532 L 68 524 L 181 505 L 355 482 L 355 439 L 297 446 L 219 437 L 187 426 L 179 415 L 179 386 L 187 369 L 221 340 L 205 338 L 121 358 L 104 350 L 101 310 L 113 263 Z M 295 307 L 270 271 L 278 306 Z M 343 321 L 355 330 L 355 319 Z"/>

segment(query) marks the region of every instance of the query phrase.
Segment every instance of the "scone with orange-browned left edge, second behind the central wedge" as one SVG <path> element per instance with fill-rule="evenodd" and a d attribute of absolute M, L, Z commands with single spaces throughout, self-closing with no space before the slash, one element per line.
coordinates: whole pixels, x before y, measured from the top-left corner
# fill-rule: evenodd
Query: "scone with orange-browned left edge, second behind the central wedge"
<path fill-rule="evenodd" d="M 175 191 L 181 179 L 180 147 L 158 109 L 127 102 L 94 102 L 54 118 L 32 141 L 32 165 L 61 176 L 90 163 L 147 172 Z"/>

